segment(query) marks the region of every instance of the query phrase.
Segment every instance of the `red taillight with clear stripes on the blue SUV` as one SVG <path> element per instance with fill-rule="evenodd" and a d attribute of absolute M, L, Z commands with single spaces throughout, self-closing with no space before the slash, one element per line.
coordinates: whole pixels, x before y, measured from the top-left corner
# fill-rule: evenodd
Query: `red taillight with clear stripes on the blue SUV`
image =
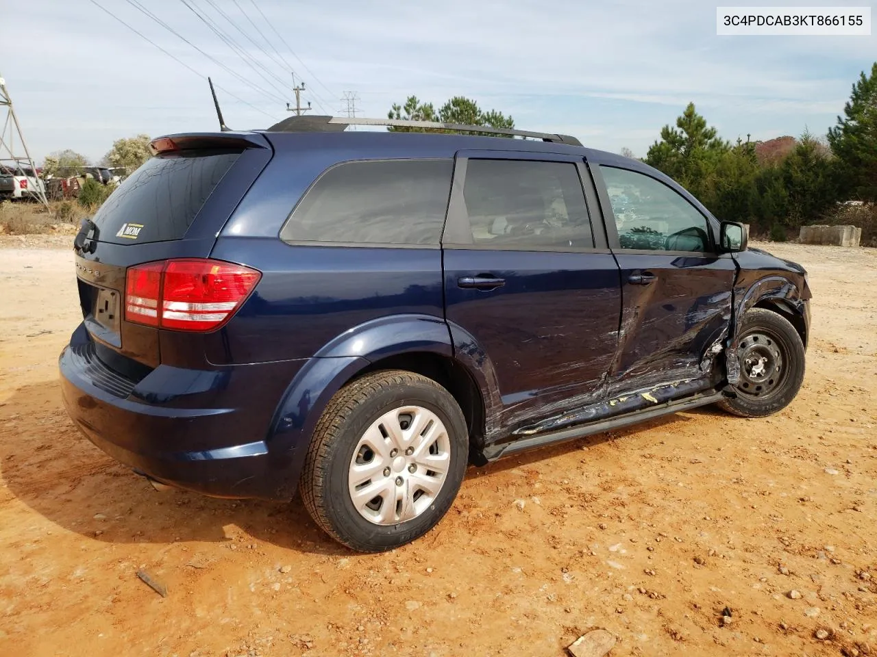
<path fill-rule="evenodd" d="M 125 319 L 161 329 L 218 329 L 237 312 L 261 276 L 243 265 L 203 258 L 129 267 Z"/>

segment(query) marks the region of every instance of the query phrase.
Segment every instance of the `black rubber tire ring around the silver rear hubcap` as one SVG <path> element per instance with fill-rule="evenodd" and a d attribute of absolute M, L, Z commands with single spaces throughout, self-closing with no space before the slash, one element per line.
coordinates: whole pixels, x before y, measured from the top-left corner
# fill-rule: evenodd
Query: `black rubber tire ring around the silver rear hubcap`
<path fill-rule="evenodd" d="M 355 385 L 355 384 L 354 384 Z M 382 414 L 402 406 L 422 406 L 444 423 L 451 443 L 451 459 L 445 483 L 430 507 L 417 518 L 396 525 L 376 525 L 360 515 L 350 498 L 348 475 L 353 450 L 362 434 Z M 325 512 L 332 526 L 351 546 L 367 539 L 368 551 L 396 548 L 428 532 L 453 504 L 466 471 L 468 432 L 466 421 L 449 392 L 436 385 L 410 383 L 381 390 L 350 413 L 332 442 L 326 481 Z"/>

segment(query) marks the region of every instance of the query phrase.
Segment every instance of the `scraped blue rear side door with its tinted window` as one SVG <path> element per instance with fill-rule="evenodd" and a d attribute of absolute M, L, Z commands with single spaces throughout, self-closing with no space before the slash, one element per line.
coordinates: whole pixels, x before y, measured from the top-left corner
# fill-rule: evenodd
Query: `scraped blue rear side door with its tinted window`
<path fill-rule="evenodd" d="M 502 428 L 600 395 L 616 351 L 618 270 L 602 226 L 592 230 L 596 200 L 587 187 L 586 201 L 583 173 L 583 160 L 567 155 L 457 154 L 446 317 L 493 364 Z"/>

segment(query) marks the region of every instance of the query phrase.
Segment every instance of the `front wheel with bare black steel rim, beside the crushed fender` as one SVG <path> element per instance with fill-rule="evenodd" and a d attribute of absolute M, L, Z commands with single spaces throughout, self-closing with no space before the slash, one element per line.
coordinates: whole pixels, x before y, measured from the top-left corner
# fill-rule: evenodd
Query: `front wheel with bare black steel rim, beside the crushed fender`
<path fill-rule="evenodd" d="M 752 308 L 743 318 L 738 340 L 740 380 L 736 399 L 719 406 L 745 418 L 771 415 L 788 406 L 804 379 L 804 345 L 781 314 Z"/>

